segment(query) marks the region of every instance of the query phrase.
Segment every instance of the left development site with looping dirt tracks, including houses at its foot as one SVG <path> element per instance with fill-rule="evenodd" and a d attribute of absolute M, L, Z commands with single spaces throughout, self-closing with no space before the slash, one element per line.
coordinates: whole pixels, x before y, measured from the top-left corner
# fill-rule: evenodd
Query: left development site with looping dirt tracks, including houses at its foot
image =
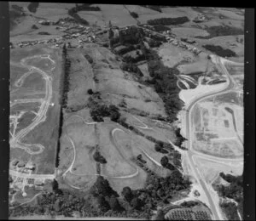
<path fill-rule="evenodd" d="M 48 53 L 48 54 L 46 54 Z M 33 55 L 32 55 L 33 54 Z M 31 56 L 32 55 L 32 56 Z M 55 178 L 61 57 L 49 48 L 11 54 L 10 203 L 31 200 Z"/>

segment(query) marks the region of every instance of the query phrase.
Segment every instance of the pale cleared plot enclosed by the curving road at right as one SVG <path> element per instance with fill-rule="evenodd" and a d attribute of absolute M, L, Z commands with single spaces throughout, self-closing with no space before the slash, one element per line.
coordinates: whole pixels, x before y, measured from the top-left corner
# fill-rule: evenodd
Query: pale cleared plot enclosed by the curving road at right
<path fill-rule="evenodd" d="M 230 97 L 234 94 L 227 95 Z M 242 115 L 243 108 L 234 103 L 225 103 L 222 99 L 216 96 L 195 105 L 192 111 L 193 149 L 212 156 L 241 157 L 243 118 L 237 116 Z M 236 125 L 239 125 L 239 132 Z"/>

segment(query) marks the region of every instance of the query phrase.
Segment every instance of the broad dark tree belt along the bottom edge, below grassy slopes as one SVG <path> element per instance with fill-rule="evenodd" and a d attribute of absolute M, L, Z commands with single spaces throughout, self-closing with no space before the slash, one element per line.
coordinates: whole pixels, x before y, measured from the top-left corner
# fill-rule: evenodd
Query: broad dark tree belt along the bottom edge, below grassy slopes
<path fill-rule="evenodd" d="M 166 178 L 149 175 L 145 188 L 131 190 L 124 187 L 120 196 L 109 185 L 108 180 L 98 176 L 96 183 L 90 188 L 89 194 L 84 197 L 79 192 L 60 190 L 58 183 L 53 182 L 53 192 L 43 192 L 38 196 L 37 204 L 15 207 L 10 210 L 10 216 L 64 215 L 72 217 L 78 212 L 79 217 L 134 217 L 149 218 L 152 210 L 160 202 L 168 203 L 172 195 L 179 190 L 187 190 L 190 182 L 179 172 L 173 172 Z"/>

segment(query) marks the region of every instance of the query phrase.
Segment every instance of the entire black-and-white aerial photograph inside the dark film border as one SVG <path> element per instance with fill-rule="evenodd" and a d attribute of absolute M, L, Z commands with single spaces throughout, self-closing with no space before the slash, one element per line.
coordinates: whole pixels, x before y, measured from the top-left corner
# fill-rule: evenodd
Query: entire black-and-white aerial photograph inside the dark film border
<path fill-rule="evenodd" d="M 243 220 L 244 13 L 9 2 L 9 219 Z"/>

